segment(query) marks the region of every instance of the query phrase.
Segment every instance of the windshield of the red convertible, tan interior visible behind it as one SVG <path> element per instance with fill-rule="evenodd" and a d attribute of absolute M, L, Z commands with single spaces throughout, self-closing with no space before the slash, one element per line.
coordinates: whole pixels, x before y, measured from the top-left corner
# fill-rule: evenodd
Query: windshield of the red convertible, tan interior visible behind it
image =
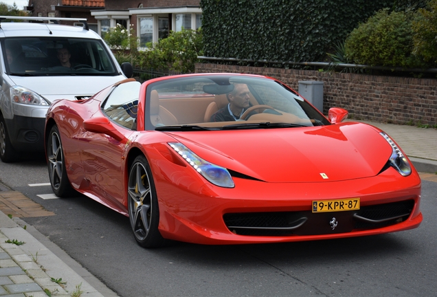
<path fill-rule="evenodd" d="M 269 78 L 207 75 L 151 83 L 146 129 L 203 131 L 330 124 L 289 87 Z"/>

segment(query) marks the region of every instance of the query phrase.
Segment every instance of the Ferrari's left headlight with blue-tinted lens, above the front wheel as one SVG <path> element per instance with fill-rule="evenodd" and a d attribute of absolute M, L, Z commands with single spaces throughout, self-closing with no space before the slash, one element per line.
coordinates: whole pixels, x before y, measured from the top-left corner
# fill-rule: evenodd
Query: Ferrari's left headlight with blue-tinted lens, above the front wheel
<path fill-rule="evenodd" d="M 234 188 L 234 181 L 226 168 L 205 161 L 179 142 L 169 142 L 168 144 L 212 184 L 223 188 Z"/>

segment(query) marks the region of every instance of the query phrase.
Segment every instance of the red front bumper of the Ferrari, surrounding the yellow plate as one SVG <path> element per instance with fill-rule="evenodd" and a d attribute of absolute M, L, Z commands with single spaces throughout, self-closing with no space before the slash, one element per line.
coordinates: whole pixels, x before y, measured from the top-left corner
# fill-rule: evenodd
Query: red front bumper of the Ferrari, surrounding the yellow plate
<path fill-rule="evenodd" d="M 419 210 L 421 180 L 416 170 L 408 177 L 388 168 L 375 177 L 320 183 L 271 184 L 234 178 L 236 186 L 232 189 L 205 182 L 201 185 L 201 180 L 197 183 L 189 176 L 183 176 L 181 171 L 179 173 L 181 175 L 175 171 L 168 176 L 155 175 L 159 230 L 164 237 L 178 241 L 240 244 L 334 239 L 409 230 L 417 228 L 422 221 Z M 358 212 L 311 212 L 314 200 L 352 197 L 360 198 Z M 384 204 L 386 206 L 381 206 Z M 399 210 L 384 213 L 399 205 Z M 372 217 L 375 212 L 372 208 L 379 212 L 376 217 Z M 250 216 L 258 214 L 261 217 L 268 214 L 271 220 L 256 225 L 259 222 L 254 223 Z M 299 225 L 305 216 L 304 228 L 291 232 L 262 232 L 262 228 L 274 225 L 275 219 L 287 217 L 290 225 Z M 236 218 L 237 222 L 229 218 Z M 245 226 L 262 228 L 235 228 L 235 223 L 241 224 L 238 222 L 241 218 L 247 219 L 243 222 Z M 338 222 L 334 229 L 330 225 L 333 218 Z"/>

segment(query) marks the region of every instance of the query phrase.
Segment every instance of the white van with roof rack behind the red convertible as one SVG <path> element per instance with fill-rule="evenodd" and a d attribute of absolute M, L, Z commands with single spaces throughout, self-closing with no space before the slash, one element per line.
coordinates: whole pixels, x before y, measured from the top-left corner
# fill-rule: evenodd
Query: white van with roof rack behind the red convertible
<path fill-rule="evenodd" d="M 20 19 L 21 23 L 1 22 Z M 80 21 L 83 27 L 28 21 Z M 81 100 L 131 77 L 86 19 L 0 17 L 0 159 L 44 151 L 45 113 L 55 99 Z"/>

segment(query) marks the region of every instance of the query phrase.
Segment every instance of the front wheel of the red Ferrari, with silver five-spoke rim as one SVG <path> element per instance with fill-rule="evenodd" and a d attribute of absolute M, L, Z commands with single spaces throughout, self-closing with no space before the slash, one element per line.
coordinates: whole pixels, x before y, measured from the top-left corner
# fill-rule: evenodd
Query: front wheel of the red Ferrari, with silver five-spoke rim
<path fill-rule="evenodd" d="M 159 233 L 158 199 L 150 166 L 137 156 L 128 177 L 128 212 L 135 240 L 143 248 L 157 248 L 166 240 Z"/>

